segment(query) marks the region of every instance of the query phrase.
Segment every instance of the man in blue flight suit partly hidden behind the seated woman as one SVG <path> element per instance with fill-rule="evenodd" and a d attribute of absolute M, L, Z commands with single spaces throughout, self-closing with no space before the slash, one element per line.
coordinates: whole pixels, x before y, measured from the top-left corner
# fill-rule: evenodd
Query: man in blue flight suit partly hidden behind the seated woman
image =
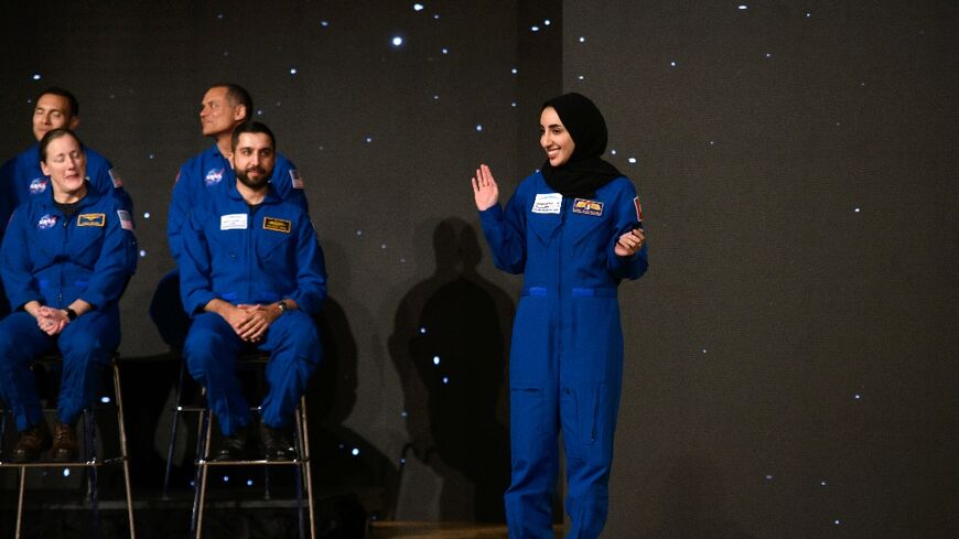
<path fill-rule="evenodd" d="M 40 139 L 54 129 L 76 129 L 80 122 L 79 101 L 64 88 L 46 88 L 36 97 L 32 122 L 37 143 L 0 166 L 0 238 L 18 206 L 34 197 L 49 196 L 50 177 L 40 168 Z M 130 195 L 110 161 L 89 148 L 85 154 L 89 187 L 99 195 L 116 196 L 123 209 L 132 212 Z M 0 316 L 9 312 L 2 295 Z"/>

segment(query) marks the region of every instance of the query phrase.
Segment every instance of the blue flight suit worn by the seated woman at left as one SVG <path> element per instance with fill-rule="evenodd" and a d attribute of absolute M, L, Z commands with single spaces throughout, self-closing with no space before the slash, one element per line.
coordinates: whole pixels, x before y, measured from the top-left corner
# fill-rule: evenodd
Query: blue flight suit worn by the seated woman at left
<path fill-rule="evenodd" d="M 0 321 L 0 391 L 19 430 L 43 419 L 30 370 L 40 354 L 63 355 L 61 422 L 73 423 L 94 400 L 99 375 L 120 344 L 117 303 L 137 267 L 132 230 L 129 212 L 93 188 L 69 218 L 54 206 L 52 188 L 14 211 L 0 247 L 0 276 L 14 311 Z M 53 337 L 22 310 L 32 300 L 65 309 L 77 298 L 94 310 Z"/>

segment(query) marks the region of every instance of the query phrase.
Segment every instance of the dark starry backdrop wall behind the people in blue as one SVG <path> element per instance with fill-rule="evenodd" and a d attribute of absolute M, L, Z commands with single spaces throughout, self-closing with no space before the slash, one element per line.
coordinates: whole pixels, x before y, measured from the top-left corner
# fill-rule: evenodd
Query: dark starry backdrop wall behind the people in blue
<path fill-rule="evenodd" d="M 246 86 L 327 255 L 319 484 L 377 518 L 495 521 L 520 281 L 468 179 L 487 162 L 511 193 L 539 104 L 582 91 L 650 238 L 621 292 L 606 537 L 956 537 L 957 23 L 946 1 L 17 1 L 0 159 L 36 91 L 77 95 L 136 204 L 121 353 L 162 408 L 166 204 L 212 143 L 205 89 Z M 134 465 L 165 455 L 157 413 Z"/>

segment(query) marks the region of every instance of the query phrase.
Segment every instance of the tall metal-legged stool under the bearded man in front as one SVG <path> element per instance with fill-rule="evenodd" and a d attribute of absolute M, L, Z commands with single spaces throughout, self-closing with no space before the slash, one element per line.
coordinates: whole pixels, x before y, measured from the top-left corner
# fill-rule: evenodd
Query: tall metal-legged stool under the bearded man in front
<path fill-rule="evenodd" d="M 270 359 L 269 354 L 255 351 L 252 353 L 241 354 L 237 358 L 237 366 L 260 366 L 266 365 Z M 205 392 L 204 392 L 205 395 Z M 177 396 L 179 400 L 179 396 Z M 254 408 L 259 410 L 259 408 Z M 190 410 L 181 410 L 190 411 Z M 211 461 L 209 446 L 213 438 L 213 421 L 211 412 L 206 406 L 200 407 L 200 433 L 197 434 L 197 461 L 194 478 L 194 497 L 193 497 L 193 515 L 190 521 L 190 531 L 193 537 L 201 539 L 203 535 L 203 514 L 206 505 L 207 489 L 207 473 L 211 466 L 294 466 L 297 475 L 297 518 L 300 528 L 300 539 L 304 539 L 304 520 L 303 520 L 303 488 L 306 489 L 308 510 L 310 515 L 310 537 L 315 539 L 316 526 L 313 514 L 313 474 L 310 471 L 310 431 L 306 423 L 306 397 L 300 397 L 300 405 L 293 412 L 293 438 L 295 456 L 291 461 L 267 461 L 250 460 L 250 461 Z M 269 484 L 269 483 L 268 483 Z"/>

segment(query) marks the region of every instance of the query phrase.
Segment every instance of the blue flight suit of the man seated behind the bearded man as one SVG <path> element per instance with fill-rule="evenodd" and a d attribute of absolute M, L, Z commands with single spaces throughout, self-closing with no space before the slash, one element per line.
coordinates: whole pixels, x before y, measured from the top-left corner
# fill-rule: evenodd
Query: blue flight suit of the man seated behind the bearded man
<path fill-rule="evenodd" d="M 230 187 L 235 181 L 236 175 L 229 160 L 220 153 L 216 144 L 183 163 L 176 174 L 173 198 L 166 214 L 166 244 L 174 260 L 180 260 L 183 250 L 181 233 L 187 225 L 193 208 L 204 204 L 211 195 L 223 191 L 224 186 Z M 281 200 L 291 201 L 304 212 L 309 211 L 300 173 L 290 160 L 279 153 L 270 184 Z M 163 341 L 174 349 L 183 347 L 183 339 L 186 338 L 190 327 L 190 321 L 180 303 L 179 291 L 180 272 L 174 269 L 160 280 L 150 304 L 150 317 L 157 324 Z"/>

